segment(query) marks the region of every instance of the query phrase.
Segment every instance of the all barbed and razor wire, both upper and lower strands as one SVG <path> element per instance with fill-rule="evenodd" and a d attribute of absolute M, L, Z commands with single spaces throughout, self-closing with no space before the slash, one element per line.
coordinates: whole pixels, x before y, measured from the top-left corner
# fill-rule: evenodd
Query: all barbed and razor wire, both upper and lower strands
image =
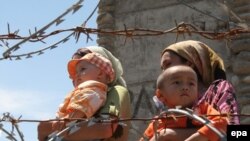
<path fill-rule="evenodd" d="M 53 21 L 48 23 L 46 26 L 43 28 L 37 30 L 35 28 L 35 32 L 32 33 L 29 30 L 29 35 L 23 36 L 19 35 L 19 30 L 16 31 L 11 31 L 10 25 L 7 24 L 7 29 L 8 33 L 6 34 L 1 34 L 0 35 L 0 47 L 2 47 L 3 54 L 0 57 L 0 60 L 21 60 L 25 58 L 32 58 L 34 55 L 42 55 L 46 51 L 50 51 L 52 49 L 57 48 L 60 44 L 66 43 L 70 38 L 73 36 L 76 42 L 79 41 L 79 38 L 81 35 L 84 35 L 86 37 L 86 41 L 92 40 L 91 35 L 92 34 L 98 34 L 98 35 L 112 35 L 112 36 L 123 36 L 125 37 L 125 43 L 127 39 L 132 39 L 134 37 L 145 37 L 145 36 L 161 36 L 161 35 L 166 35 L 166 34 L 175 34 L 176 35 L 176 41 L 178 39 L 179 35 L 186 35 L 186 36 L 192 36 L 192 35 L 199 35 L 202 36 L 206 39 L 210 40 L 231 40 L 239 35 L 242 34 L 247 34 L 250 33 L 250 30 L 248 29 L 247 25 L 244 24 L 244 20 L 240 19 L 239 16 L 237 16 L 228 6 L 228 11 L 231 15 L 236 17 L 238 19 L 239 23 L 234 23 L 230 21 L 225 21 L 224 19 L 217 17 L 215 15 L 209 14 L 206 11 L 202 11 L 192 5 L 189 5 L 185 0 L 180 0 L 180 4 L 183 4 L 184 6 L 187 6 L 197 12 L 200 12 L 204 15 L 207 15 L 209 17 L 212 17 L 218 21 L 222 21 L 224 23 L 229 24 L 229 28 L 227 31 L 221 31 L 221 32 L 215 32 L 215 31 L 204 31 L 201 30 L 199 27 L 192 25 L 190 23 L 176 23 L 174 27 L 165 29 L 165 30 L 155 30 L 155 29 L 145 29 L 145 28 L 127 28 L 126 25 L 124 25 L 123 29 L 120 30 L 105 30 L 105 29 L 96 29 L 96 28 L 87 28 L 86 24 L 89 21 L 89 19 L 93 16 L 94 12 L 97 10 L 98 5 L 95 7 L 93 12 L 88 16 L 88 18 L 78 27 L 75 28 L 69 28 L 69 29 L 58 29 L 54 30 L 52 32 L 46 32 L 48 28 L 50 28 L 52 25 L 59 25 L 63 21 L 65 21 L 64 16 L 68 15 L 70 12 L 73 14 L 77 12 L 80 8 L 82 8 L 82 3 L 83 0 L 79 0 L 77 3 L 72 5 L 70 8 L 68 8 L 64 13 L 62 13 L 60 16 L 55 18 Z M 231 28 L 233 27 L 233 28 Z M 17 50 L 22 48 L 23 44 L 26 42 L 30 43 L 45 43 L 45 40 L 52 37 L 56 36 L 62 33 L 69 33 L 66 37 L 62 38 L 61 40 L 44 47 L 42 49 L 38 49 L 36 51 L 32 52 L 27 52 L 27 53 L 21 53 L 21 54 L 14 54 Z M 9 41 L 19 41 L 17 44 L 10 46 Z M 92 126 L 93 124 L 96 123 L 118 123 L 121 124 L 122 126 L 126 126 L 123 122 L 125 121 L 152 121 L 152 120 L 158 120 L 158 119 L 166 119 L 166 118 L 172 118 L 172 119 L 177 119 L 177 115 L 172 115 L 174 113 L 178 114 L 183 114 L 185 116 L 188 116 L 192 119 L 195 119 L 202 124 L 208 126 L 210 129 L 212 129 L 214 132 L 216 132 L 221 140 L 226 140 L 226 135 L 218 131 L 216 128 L 210 126 L 210 121 L 207 119 L 209 116 L 221 116 L 221 117 L 231 117 L 231 116 L 244 116 L 244 117 L 250 117 L 250 115 L 247 114 L 237 114 L 237 115 L 229 115 L 229 114 L 219 114 L 219 115 L 195 115 L 193 111 L 191 110 L 181 110 L 181 109 L 168 109 L 163 112 L 164 114 L 160 114 L 159 117 L 155 118 L 127 118 L 127 119 L 110 119 L 110 118 L 101 118 L 101 119 L 96 119 L 96 118 L 91 118 L 91 119 L 83 119 L 83 118 L 71 118 L 71 119 L 50 119 L 50 120 L 29 120 L 29 119 L 22 119 L 22 117 L 14 118 L 10 113 L 3 113 L 3 115 L 0 117 L 0 131 L 5 133 L 7 135 L 7 139 L 11 141 L 24 141 L 24 135 L 21 132 L 18 124 L 22 122 L 51 122 L 51 121 L 66 121 L 69 122 L 67 124 L 66 128 L 61 130 L 61 131 L 56 131 L 52 133 L 49 136 L 50 141 L 56 140 L 60 141 L 63 139 L 63 133 L 68 132 L 69 134 L 72 134 L 74 132 L 77 132 L 79 128 L 81 127 L 82 123 L 88 123 L 88 126 Z M 162 116 L 163 115 L 163 116 Z M 11 130 L 7 130 L 4 125 L 2 124 L 3 122 L 10 123 L 11 125 Z M 156 133 L 156 132 L 155 132 Z M 16 135 L 17 134 L 17 135 Z M 142 135 L 143 136 L 143 135 Z M 157 134 L 155 134 L 155 137 L 157 139 Z"/>

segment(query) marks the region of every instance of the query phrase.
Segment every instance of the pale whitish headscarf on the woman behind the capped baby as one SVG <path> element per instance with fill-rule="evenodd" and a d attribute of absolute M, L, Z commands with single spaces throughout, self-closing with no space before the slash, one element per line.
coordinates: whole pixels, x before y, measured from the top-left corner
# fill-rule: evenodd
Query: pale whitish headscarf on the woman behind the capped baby
<path fill-rule="evenodd" d="M 123 87 L 127 87 L 126 82 L 122 77 L 123 68 L 122 68 L 121 62 L 110 51 L 100 46 L 88 46 L 85 48 L 78 49 L 78 51 L 74 55 L 80 55 L 80 56 L 84 55 L 87 53 L 86 49 L 90 50 L 91 52 L 99 53 L 103 57 L 110 60 L 110 62 L 112 63 L 112 67 L 115 72 L 115 79 L 113 82 L 111 82 L 110 86 L 121 85 Z M 85 53 L 82 54 L 81 50 Z"/>

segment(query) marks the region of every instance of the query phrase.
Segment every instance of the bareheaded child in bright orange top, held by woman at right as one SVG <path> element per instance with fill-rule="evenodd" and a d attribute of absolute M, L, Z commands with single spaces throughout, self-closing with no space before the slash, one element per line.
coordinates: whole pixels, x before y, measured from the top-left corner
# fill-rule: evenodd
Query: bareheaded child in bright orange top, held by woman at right
<path fill-rule="evenodd" d="M 157 79 L 157 98 L 168 108 L 180 106 L 182 108 L 192 108 L 197 115 L 218 115 L 219 112 L 207 103 L 195 105 L 198 99 L 198 80 L 195 71 L 188 66 L 174 66 L 166 69 Z M 226 132 L 226 118 L 220 116 L 209 116 L 208 119 L 220 131 Z M 217 141 L 219 137 L 205 125 L 201 125 L 195 120 L 190 120 L 186 116 L 174 119 L 163 119 L 158 121 L 157 132 L 166 128 L 188 128 L 201 127 L 196 133 L 189 137 L 190 140 Z M 154 136 L 153 122 L 150 123 L 144 135 L 151 140 Z M 161 136 L 162 140 L 175 140 L 176 137 Z M 141 139 L 143 140 L 143 139 Z"/>

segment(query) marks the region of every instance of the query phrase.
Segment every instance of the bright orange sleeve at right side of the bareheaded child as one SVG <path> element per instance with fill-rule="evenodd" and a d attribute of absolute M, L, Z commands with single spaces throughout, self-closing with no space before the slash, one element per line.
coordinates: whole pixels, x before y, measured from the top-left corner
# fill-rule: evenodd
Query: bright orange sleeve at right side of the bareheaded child
<path fill-rule="evenodd" d="M 212 106 L 207 103 L 200 105 L 200 112 L 201 114 L 207 115 L 218 115 L 219 112 L 215 110 Z M 214 127 L 226 133 L 227 130 L 227 119 L 226 117 L 221 116 L 209 116 L 208 119 L 213 123 Z M 219 136 L 214 133 L 211 129 L 207 126 L 201 127 L 198 132 L 204 136 L 206 136 L 210 141 L 218 141 Z"/>

